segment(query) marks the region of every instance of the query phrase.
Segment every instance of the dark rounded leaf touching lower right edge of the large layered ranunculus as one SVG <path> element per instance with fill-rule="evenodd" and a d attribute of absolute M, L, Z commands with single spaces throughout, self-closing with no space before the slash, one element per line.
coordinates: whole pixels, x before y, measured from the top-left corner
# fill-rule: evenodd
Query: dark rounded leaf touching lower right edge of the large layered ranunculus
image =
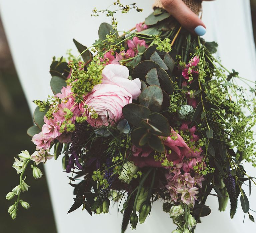
<path fill-rule="evenodd" d="M 124 118 L 128 120 L 129 123 L 139 126 L 142 119 L 147 119 L 150 110 L 144 106 L 136 104 L 128 104 L 122 109 Z"/>

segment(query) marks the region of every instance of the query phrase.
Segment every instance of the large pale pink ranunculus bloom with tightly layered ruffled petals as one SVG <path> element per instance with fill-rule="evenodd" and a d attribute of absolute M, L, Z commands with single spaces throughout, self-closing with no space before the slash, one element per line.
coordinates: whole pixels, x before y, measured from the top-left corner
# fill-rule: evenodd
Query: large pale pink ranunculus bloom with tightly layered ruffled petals
<path fill-rule="evenodd" d="M 123 116 L 123 107 L 130 103 L 132 103 L 132 95 L 124 88 L 111 84 L 98 84 L 85 96 L 80 108 L 83 115 L 87 116 L 87 122 L 93 127 L 99 127 L 115 124 Z M 88 108 L 84 108 L 84 105 Z M 98 118 L 92 118 L 91 110 L 98 115 Z"/>

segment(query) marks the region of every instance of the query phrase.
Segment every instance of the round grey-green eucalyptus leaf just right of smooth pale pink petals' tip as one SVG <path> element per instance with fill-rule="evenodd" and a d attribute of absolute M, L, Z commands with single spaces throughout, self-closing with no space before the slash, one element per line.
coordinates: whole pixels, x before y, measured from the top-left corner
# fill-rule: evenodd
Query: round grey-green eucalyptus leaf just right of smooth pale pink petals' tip
<path fill-rule="evenodd" d="M 162 89 L 156 85 L 145 88 L 139 95 L 139 102 L 152 112 L 159 112 L 163 103 Z"/>

